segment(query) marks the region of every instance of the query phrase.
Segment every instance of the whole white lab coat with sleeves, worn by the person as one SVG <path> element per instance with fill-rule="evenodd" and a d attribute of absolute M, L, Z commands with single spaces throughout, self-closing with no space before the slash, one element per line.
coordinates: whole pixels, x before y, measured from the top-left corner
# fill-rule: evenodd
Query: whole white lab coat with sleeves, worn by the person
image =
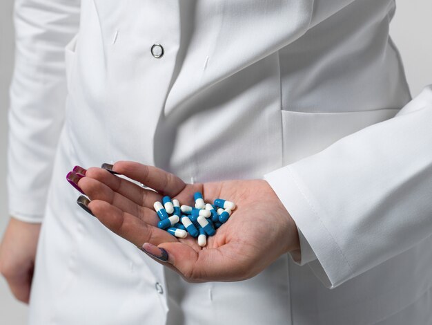
<path fill-rule="evenodd" d="M 432 324 L 432 86 L 411 100 L 393 0 L 79 6 L 16 1 L 10 213 L 43 220 L 30 324 Z M 186 284 L 75 203 L 66 173 L 116 160 L 266 178 L 301 256 Z"/>

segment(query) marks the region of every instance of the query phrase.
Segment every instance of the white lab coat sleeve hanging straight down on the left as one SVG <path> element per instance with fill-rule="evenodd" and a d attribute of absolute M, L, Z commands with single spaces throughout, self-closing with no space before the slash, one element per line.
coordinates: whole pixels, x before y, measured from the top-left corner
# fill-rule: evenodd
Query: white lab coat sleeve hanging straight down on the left
<path fill-rule="evenodd" d="M 10 86 L 9 213 L 41 222 L 66 99 L 64 48 L 79 26 L 79 0 L 16 0 Z"/>

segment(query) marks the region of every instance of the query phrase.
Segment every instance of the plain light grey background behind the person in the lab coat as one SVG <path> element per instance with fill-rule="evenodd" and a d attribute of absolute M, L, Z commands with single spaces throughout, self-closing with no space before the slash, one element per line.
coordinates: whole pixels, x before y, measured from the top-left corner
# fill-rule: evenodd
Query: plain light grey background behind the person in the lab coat
<path fill-rule="evenodd" d="M 0 0 L 0 234 L 8 222 L 6 143 L 8 87 L 13 66 L 13 0 Z M 391 35 L 400 49 L 413 96 L 432 84 L 432 1 L 398 1 Z M 0 279 L 0 324 L 26 324 L 27 307 L 15 301 Z"/>

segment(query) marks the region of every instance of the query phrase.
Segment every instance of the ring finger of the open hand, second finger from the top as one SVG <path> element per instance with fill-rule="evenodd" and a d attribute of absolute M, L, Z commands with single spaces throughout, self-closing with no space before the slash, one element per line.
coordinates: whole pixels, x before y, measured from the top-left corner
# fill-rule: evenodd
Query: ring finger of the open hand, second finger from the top
<path fill-rule="evenodd" d="M 99 182 L 106 184 L 110 189 L 129 198 L 130 201 L 133 201 L 137 205 L 153 207 L 155 201 L 161 201 L 160 194 L 150 189 L 143 189 L 139 185 L 124 178 L 112 175 L 105 169 L 90 167 L 86 171 L 86 176 L 99 180 Z"/>

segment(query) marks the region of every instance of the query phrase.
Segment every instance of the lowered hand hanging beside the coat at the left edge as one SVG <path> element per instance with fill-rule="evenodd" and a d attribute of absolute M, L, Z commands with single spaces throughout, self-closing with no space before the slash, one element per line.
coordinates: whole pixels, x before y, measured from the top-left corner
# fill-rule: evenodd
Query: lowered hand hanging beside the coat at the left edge
<path fill-rule="evenodd" d="M 28 304 L 32 286 L 40 223 L 26 223 L 10 218 L 0 245 L 0 272 L 12 294 Z"/>

